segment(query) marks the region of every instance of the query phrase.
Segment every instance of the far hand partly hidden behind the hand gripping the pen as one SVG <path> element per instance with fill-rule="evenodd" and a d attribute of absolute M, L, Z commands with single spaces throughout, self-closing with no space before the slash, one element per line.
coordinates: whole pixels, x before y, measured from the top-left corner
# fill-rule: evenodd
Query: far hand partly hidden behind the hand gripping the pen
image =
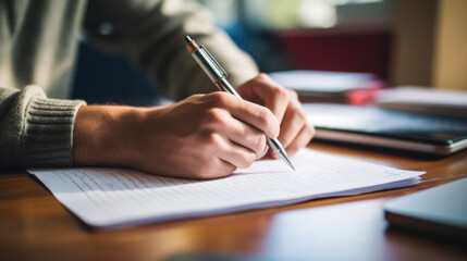
<path fill-rule="evenodd" d="M 281 124 L 279 141 L 288 156 L 305 147 L 315 135 L 315 128 L 307 123 L 297 94 L 282 88 L 267 74 L 259 74 L 239 86 L 237 91 L 243 99 L 263 105 L 275 115 Z M 273 153 L 271 156 L 276 158 Z"/>

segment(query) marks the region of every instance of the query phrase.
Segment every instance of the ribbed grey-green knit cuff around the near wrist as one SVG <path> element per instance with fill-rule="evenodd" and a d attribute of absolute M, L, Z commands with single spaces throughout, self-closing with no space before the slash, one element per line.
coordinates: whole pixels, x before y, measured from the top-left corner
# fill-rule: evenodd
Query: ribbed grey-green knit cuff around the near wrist
<path fill-rule="evenodd" d="M 33 99 L 22 136 L 26 166 L 72 166 L 73 125 L 81 100 Z"/>

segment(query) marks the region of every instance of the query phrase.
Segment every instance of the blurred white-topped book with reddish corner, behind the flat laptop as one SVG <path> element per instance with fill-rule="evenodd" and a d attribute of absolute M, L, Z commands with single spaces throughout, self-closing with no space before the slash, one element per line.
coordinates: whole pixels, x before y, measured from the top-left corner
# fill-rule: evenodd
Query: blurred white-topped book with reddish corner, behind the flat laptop
<path fill-rule="evenodd" d="M 370 73 L 327 71 L 282 71 L 270 77 L 297 92 L 303 102 L 366 104 L 371 102 L 384 84 Z"/>

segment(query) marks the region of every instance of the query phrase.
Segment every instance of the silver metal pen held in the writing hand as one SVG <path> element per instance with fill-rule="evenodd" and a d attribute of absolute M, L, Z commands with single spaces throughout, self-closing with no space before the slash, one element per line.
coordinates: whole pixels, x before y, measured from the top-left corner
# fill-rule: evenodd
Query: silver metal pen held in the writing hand
<path fill-rule="evenodd" d="M 205 73 L 209 76 L 212 83 L 220 89 L 226 92 L 230 92 L 237 98 L 242 97 L 236 92 L 232 85 L 228 82 L 228 73 L 222 69 L 222 66 L 216 61 L 216 59 L 209 53 L 208 49 L 204 46 L 198 46 L 195 40 L 189 36 L 185 36 L 184 39 L 185 46 L 188 51 L 192 53 L 196 62 L 201 66 Z M 295 171 L 294 165 L 287 157 L 284 148 L 278 139 L 267 138 L 268 146 L 276 153 L 287 165 Z"/>

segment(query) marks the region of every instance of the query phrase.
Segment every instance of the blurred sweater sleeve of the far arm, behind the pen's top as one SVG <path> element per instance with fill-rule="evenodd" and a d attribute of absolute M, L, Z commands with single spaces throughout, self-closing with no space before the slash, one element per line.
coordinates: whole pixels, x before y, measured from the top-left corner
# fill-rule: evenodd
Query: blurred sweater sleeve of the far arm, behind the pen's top
<path fill-rule="evenodd" d="M 112 7 L 112 8 L 109 8 Z M 152 77 L 168 97 L 180 100 L 217 90 L 186 50 L 192 36 L 229 73 L 234 87 L 258 74 L 253 59 L 217 28 L 209 11 L 181 0 L 95 0 L 85 18 L 86 39 L 125 54 Z"/>

